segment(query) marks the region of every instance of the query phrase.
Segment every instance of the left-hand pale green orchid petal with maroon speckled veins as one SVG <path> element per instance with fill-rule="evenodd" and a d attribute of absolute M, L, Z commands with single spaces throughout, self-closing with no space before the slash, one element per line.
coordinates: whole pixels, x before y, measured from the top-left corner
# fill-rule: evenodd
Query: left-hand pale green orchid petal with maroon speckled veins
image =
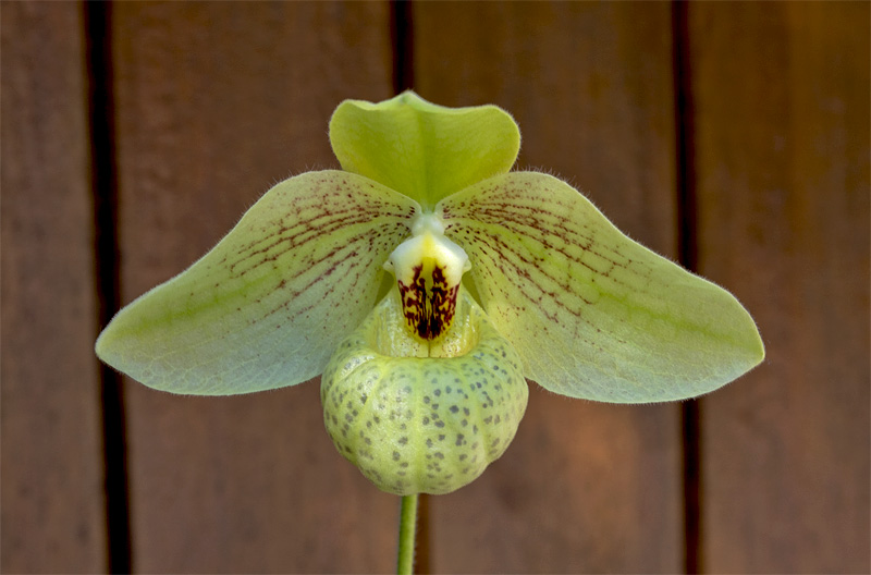
<path fill-rule="evenodd" d="M 371 310 L 381 266 L 418 209 L 346 172 L 286 180 L 199 261 L 122 309 L 97 355 L 176 393 L 306 381 Z"/>

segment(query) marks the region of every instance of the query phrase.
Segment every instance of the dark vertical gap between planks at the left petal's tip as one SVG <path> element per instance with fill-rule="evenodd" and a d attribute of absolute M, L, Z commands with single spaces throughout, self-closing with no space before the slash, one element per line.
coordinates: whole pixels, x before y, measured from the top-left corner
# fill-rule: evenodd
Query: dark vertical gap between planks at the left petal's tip
<path fill-rule="evenodd" d="M 85 2 L 83 10 L 88 73 L 97 320 L 102 329 L 118 310 L 121 301 L 111 3 Z M 109 573 L 131 573 L 133 563 L 122 380 L 116 371 L 100 364 L 99 381 L 102 401 L 108 567 Z"/>

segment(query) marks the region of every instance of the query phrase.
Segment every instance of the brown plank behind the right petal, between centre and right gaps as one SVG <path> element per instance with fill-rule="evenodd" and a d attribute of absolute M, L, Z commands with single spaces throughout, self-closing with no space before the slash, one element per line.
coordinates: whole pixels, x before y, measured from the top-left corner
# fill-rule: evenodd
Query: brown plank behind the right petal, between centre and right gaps
<path fill-rule="evenodd" d="M 520 168 L 567 179 L 631 236 L 675 254 L 667 4 L 424 2 L 414 40 L 424 97 L 502 106 L 520 125 Z M 430 501 L 433 570 L 678 570 L 678 407 L 530 389 L 505 455 Z"/>

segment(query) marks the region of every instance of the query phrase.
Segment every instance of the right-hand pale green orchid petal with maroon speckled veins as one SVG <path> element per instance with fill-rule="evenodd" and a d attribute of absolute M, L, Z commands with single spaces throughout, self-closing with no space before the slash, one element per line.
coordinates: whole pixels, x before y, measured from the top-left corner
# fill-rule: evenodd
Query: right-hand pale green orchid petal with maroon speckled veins
<path fill-rule="evenodd" d="M 710 392 L 764 357 L 738 301 L 633 242 L 566 183 L 511 173 L 441 203 L 481 304 L 542 387 L 615 403 Z"/>

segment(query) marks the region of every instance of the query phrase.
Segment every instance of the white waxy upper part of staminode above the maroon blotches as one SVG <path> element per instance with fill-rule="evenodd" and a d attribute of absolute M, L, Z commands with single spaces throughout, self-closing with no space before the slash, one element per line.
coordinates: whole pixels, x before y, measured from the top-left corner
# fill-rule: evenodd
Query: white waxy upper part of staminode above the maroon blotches
<path fill-rule="evenodd" d="M 458 285 L 471 268 L 466 252 L 444 236 L 444 223 L 434 213 L 421 213 L 412 224 L 412 237 L 400 244 L 384 262 L 397 280 L 409 282 L 415 268 L 432 259 L 450 286 Z"/>

